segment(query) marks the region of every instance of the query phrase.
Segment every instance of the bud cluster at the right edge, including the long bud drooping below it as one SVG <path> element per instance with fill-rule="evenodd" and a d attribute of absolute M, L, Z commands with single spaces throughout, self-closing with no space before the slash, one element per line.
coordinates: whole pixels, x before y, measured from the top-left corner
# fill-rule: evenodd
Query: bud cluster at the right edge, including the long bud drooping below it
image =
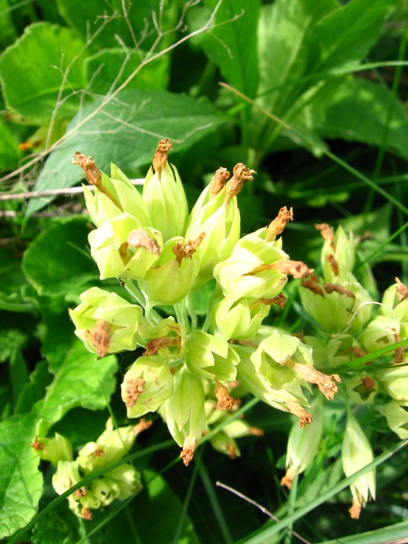
<path fill-rule="evenodd" d="M 408 288 L 395 278 L 381 302 L 375 301 L 353 275 L 356 249 L 352 235 L 346 235 L 341 227 L 335 234 L 329 225 L 317 228 L 324 238 L 322 277 L 313 274 L 303 281 L 300 298 L 319 327 L 316 336 L 305 336 L 304 340 L 313 349 L 316 368 L 346 369 L 343 378 L 349 404 L 341 460 L 346 476 L 350 476 L 373 460 L 368 438 L 351 414 L 351 404 L 356 409 L 363 404 L 374 409 L 385 416 L 399 438 L 408 438 L 408 355 L 404 347 L 395 348 L 378 363 L 356 365 L 359 357 L 373 354 L 374 359 L 376 351 L 407 339 Z M 297 457 L 301 450 L 297 445 Z M 288 453 L 288 461 L 291 458 L 296 455 Z M 301 464 L 299 467 L 297 471 L 302 470 Z M 351 492 L 350 514 L 356 519 L 368 499 L 375 497 L 374 472 L 358 478 L 351 485 Z"/>

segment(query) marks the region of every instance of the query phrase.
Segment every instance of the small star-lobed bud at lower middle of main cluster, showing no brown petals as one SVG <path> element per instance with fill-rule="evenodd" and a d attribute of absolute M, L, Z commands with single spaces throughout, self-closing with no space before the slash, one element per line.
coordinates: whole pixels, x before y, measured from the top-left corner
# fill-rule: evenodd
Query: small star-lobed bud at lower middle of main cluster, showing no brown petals
<path fill-rule="evenodd" d="M 191 373 L 203 378 L 235 380 L 239 356 L 227 340 L 198 329 L 186 341 L 186 365 Z"/>

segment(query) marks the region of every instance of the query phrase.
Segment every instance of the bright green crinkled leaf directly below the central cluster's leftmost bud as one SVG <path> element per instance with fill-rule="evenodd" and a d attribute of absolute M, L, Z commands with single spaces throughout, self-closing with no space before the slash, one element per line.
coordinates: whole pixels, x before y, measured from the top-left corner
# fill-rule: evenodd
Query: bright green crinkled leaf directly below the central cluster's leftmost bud
<path fill-rule="evenodd" d="M 52 353 L 48 359 L 54 379 L 48 385 L 43 399 L 33 407 L 38 419 L 43 419 L 41 433 L 60 421 L 70 409 L 82 407 L 99 410 L 106 407 L 115 390 L 115 373 L 118 363 L 115 356 L 98 359 L 89 353 L 84 344 L 72 335 L 62 359 L 57 351 L 56 361 Z"/>

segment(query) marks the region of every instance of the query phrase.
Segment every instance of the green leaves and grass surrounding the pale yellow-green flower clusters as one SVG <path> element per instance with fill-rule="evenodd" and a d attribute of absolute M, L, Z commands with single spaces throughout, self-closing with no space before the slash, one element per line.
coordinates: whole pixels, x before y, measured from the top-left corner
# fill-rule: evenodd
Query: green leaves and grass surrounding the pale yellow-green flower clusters
<path fill-rule="evenodd" d="M 215 169 L 244 162 L 258 171 L 239 196 L 244 233 L 293 205 L 293 259 L 319 266 L 314 223 L 341 224 L 365 236 L 373 293 L 395 276 L 408 283 L 407 15 L 406 0 L 0 0 L 1 196 L 78 185 L 76 150 L 141 178 L 168 137 L 191 203 Z M 194 466 L 180 467 L 157 418 L 132 454 L 145 481 L 135 499 L 89 523 L 52 502 L 51 469 L 30 443 L 52 429 L 81 446 L 109 414 L 125 423 L 118 385 L 132 354 L 96 361 L 67 316 L 99 285 L 82 198 L 0 206 L 0 538 L 288 543 L 278 529 L 295 519 L 314 542 L 407 535 L 407 452 L 392 458 L 397 437 L 368 416 L 383 455 L 378 499 L 348 520 L 336 402 L 326 450 L 290 497 L 279 485 L 290 417 L 254 403 L 246 417 L 264 436 L 243 439 L 241 458 L 204 441 Z M 308 324 L 292 294 L 273 324 L 300 332 Z M 217 480 L 285 523 L 271 529 Z"/>

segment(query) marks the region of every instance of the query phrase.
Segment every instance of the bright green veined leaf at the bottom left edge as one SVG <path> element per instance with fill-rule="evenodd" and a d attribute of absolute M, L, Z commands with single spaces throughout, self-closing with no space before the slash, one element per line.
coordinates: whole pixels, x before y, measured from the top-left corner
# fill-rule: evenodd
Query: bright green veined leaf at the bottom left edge
<path fill-rule="evenodd" d="M 36 421 L 35 416 L 26 414 L 0 423 L 0 538 L 24 527 L 38 509 L 40 458 L 30 448 Z"/>

